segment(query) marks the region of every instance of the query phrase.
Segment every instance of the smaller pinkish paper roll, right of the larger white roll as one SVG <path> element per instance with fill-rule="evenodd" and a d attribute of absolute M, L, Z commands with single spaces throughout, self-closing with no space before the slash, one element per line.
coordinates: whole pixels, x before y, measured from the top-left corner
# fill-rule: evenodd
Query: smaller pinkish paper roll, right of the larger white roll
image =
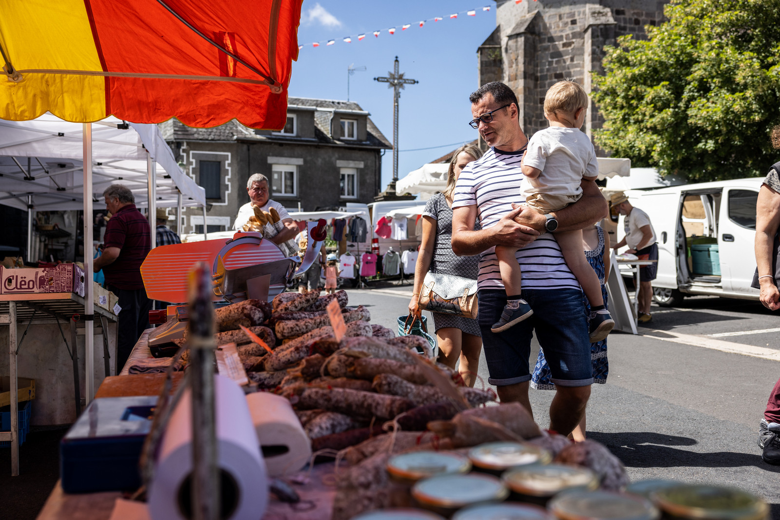
<path fill-rule="evenodd" d="M 289 475 L 303 468 L 311 457 L 311 441 L 290 402 L 270 392 L 257 392 L 246 395 L 246 403 L 268 475 Z"/>

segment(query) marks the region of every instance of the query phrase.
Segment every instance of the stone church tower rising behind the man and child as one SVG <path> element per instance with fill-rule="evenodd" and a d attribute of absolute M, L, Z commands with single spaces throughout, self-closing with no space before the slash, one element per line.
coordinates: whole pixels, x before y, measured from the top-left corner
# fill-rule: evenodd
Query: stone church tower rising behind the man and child
<path fill-rule="evenodd" d="M 590 72 L 603 73 L 605 45 L 663 21 L 668 0 L 497 0 L 496 28 L 477 49 L 479 84 L 502 81 L 519 101 L 520 124 L 527 135 L 547 128 L 544 94 L 570 78 L 592 90 Z M 591 102 L 584 130 L 601 128 L 603 118 Z"/>

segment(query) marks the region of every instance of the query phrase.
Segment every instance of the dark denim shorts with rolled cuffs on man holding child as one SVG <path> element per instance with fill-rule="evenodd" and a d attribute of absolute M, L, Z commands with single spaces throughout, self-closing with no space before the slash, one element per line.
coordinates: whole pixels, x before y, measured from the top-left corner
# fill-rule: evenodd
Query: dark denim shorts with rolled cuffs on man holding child
<path fill-rule="evenodd" d="M 482 289 L 479 299 L 479 324 L 490 384 L 505 386 L 530 380 L 531 336 L 544 348 L 550 366 L 551 382 L 562 387 L 593 384 L 590 339 L 580 289 L 523 289 L 534 310 L 527 320 L 495 334 L 491 326 L 501 317 L 506 305 L 502 289 Z"/>

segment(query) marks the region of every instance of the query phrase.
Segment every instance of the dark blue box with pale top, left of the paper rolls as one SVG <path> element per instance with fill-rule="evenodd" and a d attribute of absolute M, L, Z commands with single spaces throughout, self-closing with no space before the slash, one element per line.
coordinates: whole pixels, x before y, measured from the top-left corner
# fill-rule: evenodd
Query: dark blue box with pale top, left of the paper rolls
<path fill-rule="evenodd" d="M 138 459 L 155 405 L 157 396 L 90 402 L 59 443 L 62 490 L 137 490 L 141 484 Z"/>

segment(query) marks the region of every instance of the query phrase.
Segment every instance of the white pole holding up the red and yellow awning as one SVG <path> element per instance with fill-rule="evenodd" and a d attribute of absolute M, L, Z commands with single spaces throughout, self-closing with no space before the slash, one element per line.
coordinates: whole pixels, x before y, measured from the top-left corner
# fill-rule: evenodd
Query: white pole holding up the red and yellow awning
<path fill-rule="evenodd" d="M 87 405 L 94 397 L 94 301 L 92 284 L 92 123 L 83 123 L 84 164 L 84 379 L 86 380 Z M 76 345 L 73 345 L 76 348 Z M 74 352 L 75 354 L 75 352 Z"/>

